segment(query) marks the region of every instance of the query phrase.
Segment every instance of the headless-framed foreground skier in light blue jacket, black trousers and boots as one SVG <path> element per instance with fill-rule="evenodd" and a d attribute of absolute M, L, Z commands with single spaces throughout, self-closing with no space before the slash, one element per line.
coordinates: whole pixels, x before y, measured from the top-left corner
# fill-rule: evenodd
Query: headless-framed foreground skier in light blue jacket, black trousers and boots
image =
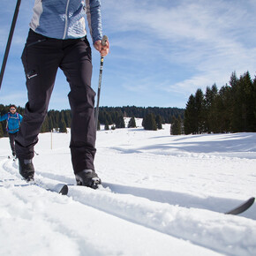
<path fill-rule="evenodd" d="M 60 68 L 71 91 L 72 167 L 77 184 L 97 188 L 101 179 L 94 170 L 95 136 L 94 90 L 91 88 L 92 59 L 87 41 L 85 16 L 94 48 L 101 56 L 109 53 L 109 41 L 102 46 L 100 0 L 35 0 L 34 14 L 21 59 L 26 73 L 28 102 L 24 121 L 16 137 L 19 173 L 34 179 L 34 145 L 47 114 L 57 69 Z"/>

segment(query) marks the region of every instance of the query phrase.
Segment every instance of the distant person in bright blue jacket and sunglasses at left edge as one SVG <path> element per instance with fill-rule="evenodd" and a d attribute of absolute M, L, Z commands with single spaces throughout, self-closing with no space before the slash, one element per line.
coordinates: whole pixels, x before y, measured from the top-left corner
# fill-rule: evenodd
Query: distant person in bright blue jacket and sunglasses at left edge
<path fill-rule="evenodd" d="M 11 151 L 13 156 L 16 155 L 14 139 L 16 138 L 17 133 L 19 132 L 19 126 L 23 118 L 16 111 L 17 111 L 17 107 L 15 105 L 11 105 L 10 112 L 8 112 L 2 117 L 0 116 L 0 122 L 6 120 L 6 131 L 9 134 L 10 146 L 11 146 Z"/>

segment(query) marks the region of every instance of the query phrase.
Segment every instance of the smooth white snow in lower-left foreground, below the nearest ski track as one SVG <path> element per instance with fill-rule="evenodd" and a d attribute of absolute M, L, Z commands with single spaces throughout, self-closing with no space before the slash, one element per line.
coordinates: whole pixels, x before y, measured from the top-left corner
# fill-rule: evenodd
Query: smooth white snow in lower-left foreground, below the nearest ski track
<path fill-rule="evenodd" d="M 218 254 L 41 187 L 21 188 L 26 182 L 8 171 L 0 180 L 1 255 Z"/>

